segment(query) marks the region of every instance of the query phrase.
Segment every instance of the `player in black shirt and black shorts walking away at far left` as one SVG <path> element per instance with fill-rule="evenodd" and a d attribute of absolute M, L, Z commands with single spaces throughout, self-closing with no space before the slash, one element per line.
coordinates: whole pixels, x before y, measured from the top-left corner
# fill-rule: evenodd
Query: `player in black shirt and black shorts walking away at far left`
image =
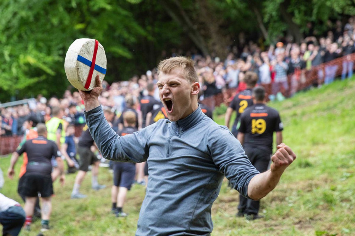
<path fill-rule="evenodd" d="M 18 192 L 26 196 L 26 202 L 24 205 L 24 211 L 26 212 L 25 229 L 30 229 L 34 205 L 39 192 L 42 198 L 41 231 L 47 231 L 49 229 L 49 217 L 52 208 L 51 196 L 53 195 L 51 177 L 52 156 L 55 156 L 61 173 L 64 172 L 64 164 L 56 143 L 47 139 L 47 128 L 44 124 L 40 123 L 37 125 L 37 133 L 37 138 L 28 140 L 22 145 L 20 150 L 13 152 L 8 175 L 10 179 L 13 178 L 13 175 L 15 174 L 14 167 L 18 157 L 23 152 L 27 152 L 28 164 L 26 167 L 26 173 L 22 176 L 22 186 L 18 186 Z M 61 175 L 60 182 L 62 184 L 64 183 L 64 180 L 64 175 Z"/>

